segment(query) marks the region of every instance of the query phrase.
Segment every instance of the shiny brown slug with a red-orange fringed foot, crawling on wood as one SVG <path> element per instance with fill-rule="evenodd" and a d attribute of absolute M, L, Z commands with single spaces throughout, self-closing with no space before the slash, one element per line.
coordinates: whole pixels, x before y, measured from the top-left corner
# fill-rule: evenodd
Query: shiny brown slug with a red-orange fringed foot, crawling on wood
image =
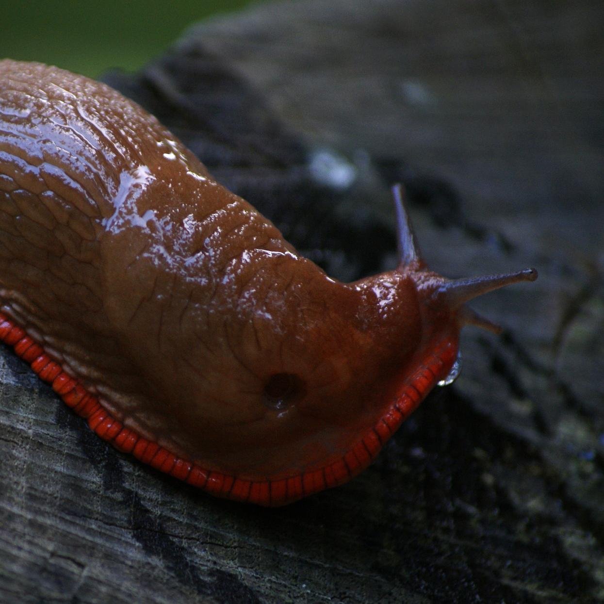
<path fill-rule="evenodd" d="M 465 303 L 395 188 L 400 264 L 341 283 L 118 92 L 0 62 L 0 338 L 102 439 L 231 500 L 345 483 L 455 372 Z"/>

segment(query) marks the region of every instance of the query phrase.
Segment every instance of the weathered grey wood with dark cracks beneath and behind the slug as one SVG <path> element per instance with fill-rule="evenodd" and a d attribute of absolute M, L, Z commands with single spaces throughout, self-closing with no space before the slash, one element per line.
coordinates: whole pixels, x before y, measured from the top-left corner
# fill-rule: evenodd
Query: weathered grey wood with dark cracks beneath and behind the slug
<path fill-rule="evenodd" d="M 108 76 L 342 278 L 393 262 L 396 179 L 435 269 L 540 278 L 475 305 L 504 336 L 467 330 L 460 379 L 368 471 L 277 510 L 118 454 L 3 349 L 0 600 L 604 601 L 603 23 L 596 0 L 284 2 Z"/>

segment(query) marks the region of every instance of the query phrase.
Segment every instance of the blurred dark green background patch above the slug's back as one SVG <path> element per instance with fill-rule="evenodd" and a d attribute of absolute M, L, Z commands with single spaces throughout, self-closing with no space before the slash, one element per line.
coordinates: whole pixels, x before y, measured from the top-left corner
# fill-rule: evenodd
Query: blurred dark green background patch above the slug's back
<path fill-rule="evenodd" d="M 97 77 L 136 69 L 188 26 L 259 0 L 25 0 L 2 10 L 0 58 L 37 60 Z"/>

